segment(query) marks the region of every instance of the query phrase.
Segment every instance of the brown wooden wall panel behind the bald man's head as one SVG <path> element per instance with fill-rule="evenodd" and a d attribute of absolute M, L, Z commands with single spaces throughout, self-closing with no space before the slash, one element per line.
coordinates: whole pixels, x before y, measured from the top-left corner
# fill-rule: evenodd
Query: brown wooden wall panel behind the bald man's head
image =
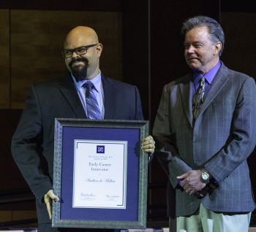
<path fill-rule="evenodd" d="M 104 49 L 101 70 L 121 80 L 121 12 L 11 10 L 12 109 L 23 108 L 29 86 L 66 72 L 61 48 L 67 32 L 91 26 Z"/>

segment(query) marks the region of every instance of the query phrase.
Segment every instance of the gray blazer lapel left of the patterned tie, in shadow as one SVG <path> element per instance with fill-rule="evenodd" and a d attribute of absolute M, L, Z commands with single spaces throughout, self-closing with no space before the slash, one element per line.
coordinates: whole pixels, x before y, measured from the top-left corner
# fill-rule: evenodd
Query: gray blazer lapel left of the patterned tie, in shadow
<path fill-rule="evenodd" d="M 180 91 L 181 91 L 181 99 L 182 105 L 185 114 L 187 115 L 187 119 L 189 120 L 190 125 L 192 126 L 193 115 L 192 115 L 192 99 L 191 95 L 191 75 L 188 74 L 184 77 L 184 81 L 180 83 Z"/>

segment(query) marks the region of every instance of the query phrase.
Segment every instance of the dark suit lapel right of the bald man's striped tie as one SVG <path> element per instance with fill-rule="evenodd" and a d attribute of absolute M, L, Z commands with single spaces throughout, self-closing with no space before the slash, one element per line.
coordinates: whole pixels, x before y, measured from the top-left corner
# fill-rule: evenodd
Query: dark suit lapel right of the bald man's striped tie
<path fill-rule="evenodd" d="M 104 119 L 113 119 L 115 113 L 116 89 L 110 79 L 102 76 L 102 86 L 104 90 Z"/>

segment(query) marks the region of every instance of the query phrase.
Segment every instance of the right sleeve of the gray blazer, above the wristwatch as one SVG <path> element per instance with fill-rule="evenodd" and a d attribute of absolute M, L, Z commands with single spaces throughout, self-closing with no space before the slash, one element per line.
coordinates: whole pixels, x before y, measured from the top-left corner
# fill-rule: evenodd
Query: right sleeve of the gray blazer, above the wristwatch
<path fill-rule="evenodd" d="M 255 80 L 247 78 L 236 101 L 231 124 L 230 140 L 205 166 L 221 182 L 246 158 L 255 148 L 256 139 L 256 86 Z"/>

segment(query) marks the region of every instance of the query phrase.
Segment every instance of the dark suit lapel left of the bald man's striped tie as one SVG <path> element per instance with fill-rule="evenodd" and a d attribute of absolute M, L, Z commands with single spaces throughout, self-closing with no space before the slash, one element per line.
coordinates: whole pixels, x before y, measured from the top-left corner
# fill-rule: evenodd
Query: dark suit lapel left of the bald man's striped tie
<path fill-rule="evenodd" d="M 72 77 L 67 76 L 64 78 L 63 82 L 61 82 L 61 93 L 66 98 L 70 107 L 74 111 L 75 115 L 78 118 L 85 118 L 86 113 L 84 112 L 83 105 L 81 104 L 80 98 L 78 96 L 78 92 L 75 88 L 75 84 L 72 80 Z"/>

